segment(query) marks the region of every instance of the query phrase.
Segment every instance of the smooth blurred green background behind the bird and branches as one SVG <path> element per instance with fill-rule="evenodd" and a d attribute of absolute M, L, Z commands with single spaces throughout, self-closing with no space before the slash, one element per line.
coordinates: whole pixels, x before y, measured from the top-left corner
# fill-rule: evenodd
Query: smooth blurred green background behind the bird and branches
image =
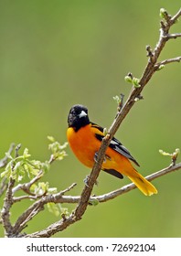
<path fill-rule="evenodd" d="M 159 36 L 159 10 L 172 15 L 180 1 L 0 1 L 0 158 L 9 144 L 27 147 L 32 158 L 48 159 L 48 135 L 67 141 L 71 105 L 85 104 L 91 121 L 109 127 L 116 112 L 112 97 L 127 97 L 131 87 L 124 76 L 140 77 L 146 65 L 145 46 L 154 48 Z M 181 21 L 172 29 L 181 32 Z M 180 55 L 180 39 L 166 45 L 161 59 Z M 171 64 L 154 75 L 116 137 L 148 175 L 170 164 L 159 149 L 180 147 L 181 64 Z M 67 149 L 45 180 L 59 190 L 74 182 L 69 195 L 80 195 L 90 173 Z M 180 158 L 179 158 L 180 159 Z M 101 195 L 130 181 L 101 173 L 93 193 Z M 181 172 L 154 182 L 157 196 L 138 191 L 89 207 L 83 219 L 57 237 L 180 237 Z M 14 221 L 29 205 L 17 203 Z M 2 206 L 2 198 L 0 202 Z M 63 205 L 69 211 L 75 206 Z M 57 221 L 48 210 L 28 223 L 27 233 Z M 0 227 L 0 237 L 4 236 Z"/>

